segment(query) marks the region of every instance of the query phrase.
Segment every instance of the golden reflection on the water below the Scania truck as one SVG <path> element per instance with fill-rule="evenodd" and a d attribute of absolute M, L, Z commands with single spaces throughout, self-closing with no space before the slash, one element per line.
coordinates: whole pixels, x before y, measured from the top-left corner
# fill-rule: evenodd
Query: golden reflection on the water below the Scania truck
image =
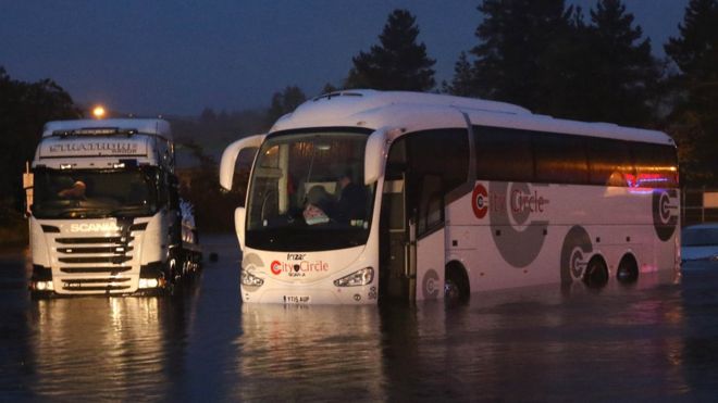
<path fill-rule="evenodd" d="M 165 344 L 162 311 L 169 307 L 162 302 L 156 298 L 38 301 L 32 311 L 36 331 L 30 340 L 35 392 L 52 398 L 95 390 L 99 399 L 119 400 L 164 395 L 165 361 L 172 358 L 173 349 Z"/>

